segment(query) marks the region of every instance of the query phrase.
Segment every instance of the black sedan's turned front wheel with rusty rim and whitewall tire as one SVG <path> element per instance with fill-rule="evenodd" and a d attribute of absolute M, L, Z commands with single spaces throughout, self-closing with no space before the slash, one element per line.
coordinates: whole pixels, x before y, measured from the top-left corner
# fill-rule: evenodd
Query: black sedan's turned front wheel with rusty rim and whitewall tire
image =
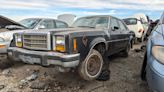
<path fill-rule="evenodd" d="M 84 80 L 94 80 L 100 75 L 103 63 L 101 54 L 93 49 L 86 59 L 80 63 L 78 73 Z"/>

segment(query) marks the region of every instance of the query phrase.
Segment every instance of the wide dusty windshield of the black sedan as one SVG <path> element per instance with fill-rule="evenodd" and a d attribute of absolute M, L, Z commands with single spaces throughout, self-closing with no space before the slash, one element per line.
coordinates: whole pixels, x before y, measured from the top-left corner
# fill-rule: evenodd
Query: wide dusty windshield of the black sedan
<path fill-rule="evenodd" d="M 77 19 L 72 27 L 107 28 L 109 17 L 83 17 Z"/>

